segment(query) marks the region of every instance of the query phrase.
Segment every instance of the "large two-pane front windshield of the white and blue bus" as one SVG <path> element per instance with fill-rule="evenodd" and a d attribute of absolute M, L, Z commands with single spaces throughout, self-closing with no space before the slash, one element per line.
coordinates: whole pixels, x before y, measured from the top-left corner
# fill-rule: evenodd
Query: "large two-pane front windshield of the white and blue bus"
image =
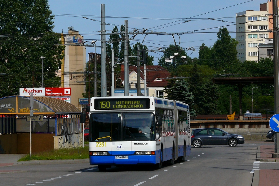
<path fill-rule="evenodd" d="M 153 113 L 92 113 L 90 141 L 154 141 Z"/>

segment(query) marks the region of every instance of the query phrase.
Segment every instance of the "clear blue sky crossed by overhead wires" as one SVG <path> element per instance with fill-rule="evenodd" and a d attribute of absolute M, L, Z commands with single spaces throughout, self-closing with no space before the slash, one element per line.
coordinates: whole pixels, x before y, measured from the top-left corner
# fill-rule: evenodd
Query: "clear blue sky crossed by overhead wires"
<path fill-rule="evenodd" d="M 148 47 L 148 55 L 154 57 L 153 64 L 163 55 L 163 50 L 170 44 L 177 44 L 186 50 L 191 58 L 198 57 L 199 47 L 204 43 L 212 47 L 216 42 L 219 28 L 226 27 L 232 38 L 235 38 L 236 13 L 254 10 L 268 0 L 49 0 L 49 8 L 55 15 L 54 29 L 56 33 L 68 33 L 73 27 L 83 36 L 85 44 L 100 43 L 101 4 L 105 5 L 106 33 L 111 33 L 114 26 L 120 26 L 128 20 L 128 31 L 134 29 L 154 34 L 138 34 L 130 44 L 140 42 Z M 86 19 L 86 18 L 89 19 Z M 91 20 L 90 20 L 91 19 Z M 212 20 L 214 19 L 214 20 Z M 186 21 L 186 22 L 185 22 Z M 160 34 L 156 34 L 160 33 Z M 176 34 L 178 33 L 178 34 Z M 172 34 L 174 34 L 172 36 Z M 132 38 L 133 35 L 130 35 Z M 109 41 L 109 35 L 106 36 Z M 88 53 L 95 52 L 94 47 L 86 47 Z M 96 47 L 100 53 L 100 47 Z"/>

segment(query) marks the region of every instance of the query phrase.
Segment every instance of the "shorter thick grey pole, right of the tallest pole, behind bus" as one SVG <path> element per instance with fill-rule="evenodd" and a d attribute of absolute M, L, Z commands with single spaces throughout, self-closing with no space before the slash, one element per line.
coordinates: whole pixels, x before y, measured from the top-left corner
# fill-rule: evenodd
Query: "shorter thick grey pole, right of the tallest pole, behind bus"
<path fill-rule="evenodd" d="M 129 36 L 128 36 L 128 20 L 124 25 L 124 96 L 129 96 Z"/>

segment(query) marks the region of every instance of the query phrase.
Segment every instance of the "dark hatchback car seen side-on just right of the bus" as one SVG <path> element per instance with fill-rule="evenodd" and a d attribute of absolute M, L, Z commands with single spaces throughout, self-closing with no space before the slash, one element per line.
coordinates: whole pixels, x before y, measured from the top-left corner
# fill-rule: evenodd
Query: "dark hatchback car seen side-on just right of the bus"
<path fill-rule="evenodd" d="M 243 136 L 230 134 L 219 128 L 193 129 L 191 134 L 191 145 L 195 148 L 199 148 L 201 145 L 229 145 L 235 147 L 237 144 L 244 143 Z"/>

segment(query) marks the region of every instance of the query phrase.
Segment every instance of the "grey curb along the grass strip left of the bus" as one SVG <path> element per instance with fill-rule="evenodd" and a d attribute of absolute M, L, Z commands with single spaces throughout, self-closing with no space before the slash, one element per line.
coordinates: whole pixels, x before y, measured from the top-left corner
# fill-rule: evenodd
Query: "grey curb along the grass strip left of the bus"
<path fill-rule="evenodd" d="M 32 160 L 24 162 L 15 162 L 11 166 L 26 166 L 26 165 L 53 165 L 53 164 L 75 164 L 75 163 L 88 163 L 88 159 L 75 159 L 75 160 Z"/>

